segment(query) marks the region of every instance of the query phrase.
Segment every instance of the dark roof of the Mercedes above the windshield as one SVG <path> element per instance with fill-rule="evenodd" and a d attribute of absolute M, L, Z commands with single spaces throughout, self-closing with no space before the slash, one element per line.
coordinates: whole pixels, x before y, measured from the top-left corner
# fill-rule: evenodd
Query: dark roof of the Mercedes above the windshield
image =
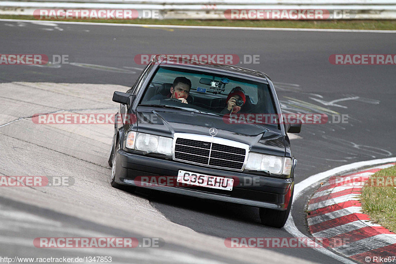
<path fill-rule="evenodd" d="M 181 60 L 180 58 L 183 58 Z M 170 56 L 166 54 L 158 54 L 153 58 L 154 61 L 157 61 L 160 65 L 170 66 L 170 67 L 179 67 L 179 68 L 189 68 L 196 70 L 203 70 L 208 72 L 218 72 L 218 73 L 231 73 L 234 75 L 238 75 L 240 77 L 250 77 L 256 79 L 258 81 L 268 82 L 268 75 L 263 72 L 251 70 L 243 67 L 239 67 L 236 65 L 229 64 L 221 64 L 221 63 L 208 63 L 205 60 L 181 57 L 181 56 Z M 172 61 L 171 63 L 169 61 Z M 176 61 L 176 62 L 174 62 Z M 180 61 L 180 62 L 178 62 Z"/>

